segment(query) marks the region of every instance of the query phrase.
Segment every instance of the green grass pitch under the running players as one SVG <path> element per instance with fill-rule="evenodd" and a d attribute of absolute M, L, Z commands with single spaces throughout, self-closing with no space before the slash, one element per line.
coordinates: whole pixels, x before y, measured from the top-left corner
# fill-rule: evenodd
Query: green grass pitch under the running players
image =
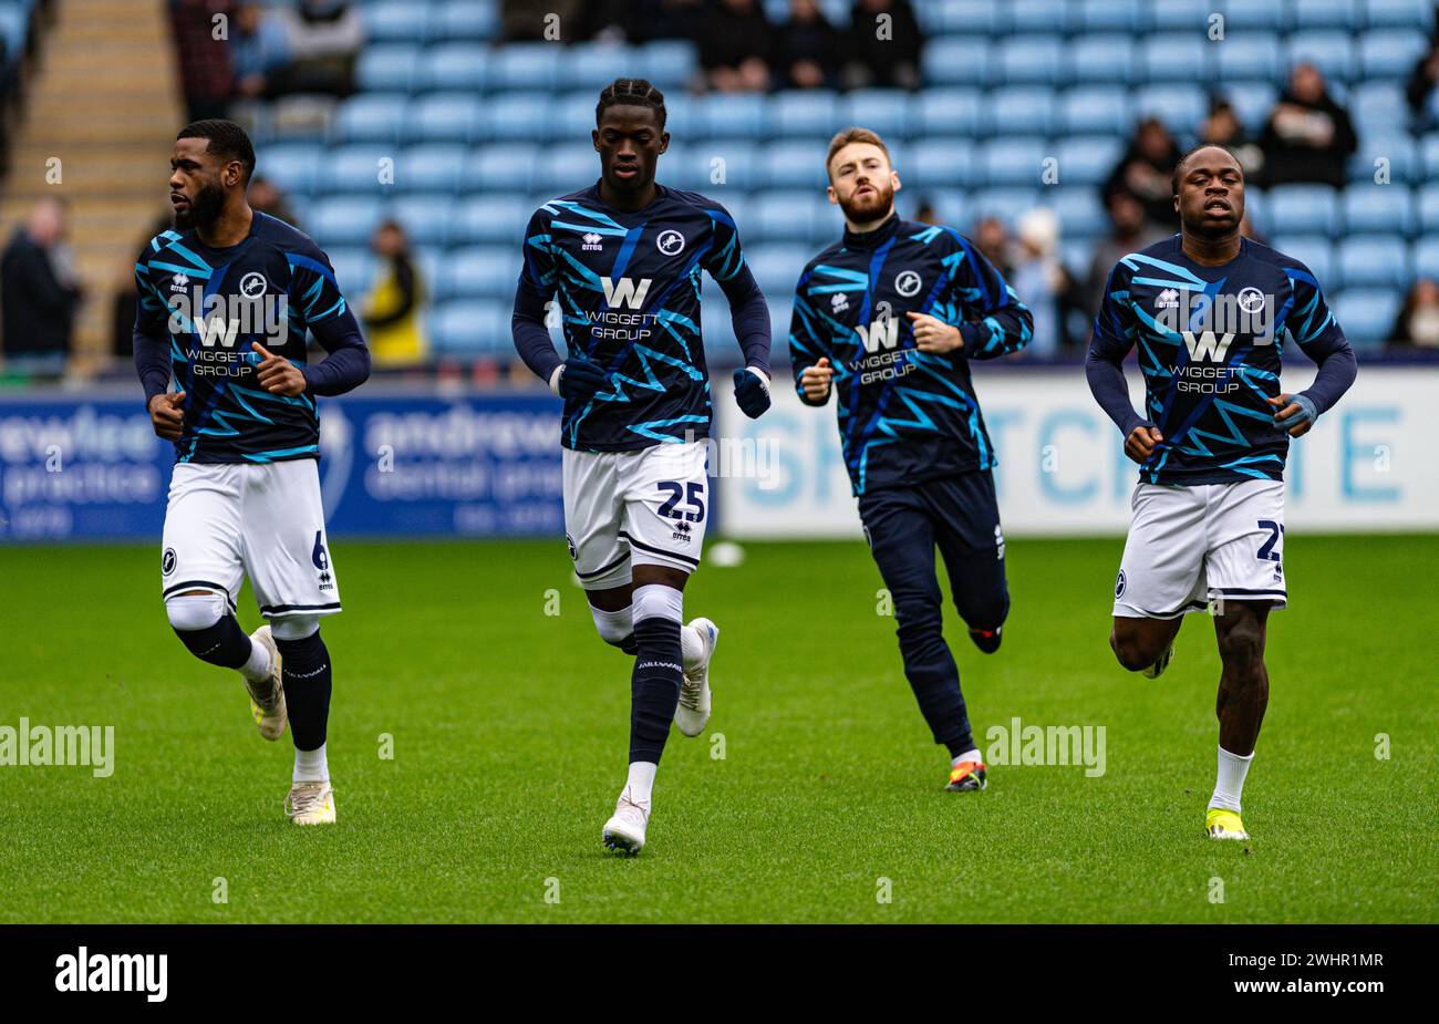
<path fill-rule="evenodd" d="M 983 794 L 943 791 L 862 544 L 704 567 L 686 616 L 722 631 L 715 713 L 672 733 L 633 860 L 600 846 L 630 663 L 596 637 L 561 542 L 335 545 L 340 824 L 315 830 L 281 811 L 289 736 L 263 742 L 237 676 L 170 633 L 157 545 L 6 549 L 0 725 L 114 725 L 115 772 L 0 768 L 0 920 L 1439 920 L 1439 536 L 1291 531 L 1248 844 L 1202 831 L 1210 621 L 1189 618 L 1160 680 L 1122 672 L 1120 548 L 1010 541 L 993 657 L 948 610 L 977 735 L 1014 715 L 1107 729 L 1102 777 L 997 767 Z"/>

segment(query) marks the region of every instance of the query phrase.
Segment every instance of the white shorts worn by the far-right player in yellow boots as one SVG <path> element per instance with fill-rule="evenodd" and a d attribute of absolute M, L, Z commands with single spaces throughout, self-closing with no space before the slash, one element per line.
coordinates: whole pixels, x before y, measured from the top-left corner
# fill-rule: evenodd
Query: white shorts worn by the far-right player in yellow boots
<path fill-rule="evenodd" d="M 1121 618 L 1176 618 L 1210 600 L 1282 608 L 1284 482 L 1140 483 L 1114 584 Z"/>

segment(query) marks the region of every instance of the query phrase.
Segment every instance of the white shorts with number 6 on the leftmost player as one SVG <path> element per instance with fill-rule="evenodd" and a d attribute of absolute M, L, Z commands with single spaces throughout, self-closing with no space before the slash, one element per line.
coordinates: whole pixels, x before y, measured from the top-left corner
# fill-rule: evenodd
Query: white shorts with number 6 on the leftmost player
<path fill-rule="evenodd" d="M 164 597 L 224 594 L 235 611 L 248 575 L 266 618 L 335 614 L 318 463 L 176 463 L 160 562 Z"/>

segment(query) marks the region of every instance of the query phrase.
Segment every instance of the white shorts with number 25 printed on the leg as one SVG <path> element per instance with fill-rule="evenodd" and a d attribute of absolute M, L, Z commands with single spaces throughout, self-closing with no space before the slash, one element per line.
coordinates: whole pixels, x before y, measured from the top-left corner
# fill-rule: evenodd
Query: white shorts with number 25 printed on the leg
<path fill-rule="evenodd" d="M 632 564 L 699 567 L 709 516 L 705 454 L 704 442 L 563 450 L 564 532 L 586 590 L 623 587 Z"/>

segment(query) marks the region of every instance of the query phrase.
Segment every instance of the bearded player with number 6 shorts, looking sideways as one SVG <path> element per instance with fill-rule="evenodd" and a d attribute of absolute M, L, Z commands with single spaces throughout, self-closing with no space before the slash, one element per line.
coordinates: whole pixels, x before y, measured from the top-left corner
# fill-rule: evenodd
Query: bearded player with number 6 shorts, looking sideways
<path fill-rule="evenodd" d="M 239 125 L 187 125 L 170 168 L 174 230 L 135 263 L 135 367 L 155 433 L 176 446 L 165 611 L 190 653 L 240 673 L 265 739 L 289 725 L 291 821 L 332 824 L 319 618 L 340 611 L 340 591 L 315 396 L 364 383 L 370 352 L 325 253 L 246 201 L 255 150 Z M 318 364 L 307 364 L 307 331 L 328 352 Z M 268 620 L 250 636 L 235 620 L 246 575 Z"/>

